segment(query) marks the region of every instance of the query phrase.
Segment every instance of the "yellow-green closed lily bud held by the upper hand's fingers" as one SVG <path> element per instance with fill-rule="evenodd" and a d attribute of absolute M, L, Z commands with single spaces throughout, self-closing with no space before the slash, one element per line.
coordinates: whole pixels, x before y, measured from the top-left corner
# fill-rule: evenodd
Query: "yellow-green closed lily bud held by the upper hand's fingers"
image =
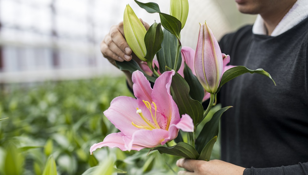
<path fill-rule="evenodd" d="M 147 54 L 147 49 L 145 47 L 144 37 L 147 30 L 128 4 L 124 10 L 123 27 L 128 46 L 140 60 L 146 62 L 147 59 L 144 56 Z"/>

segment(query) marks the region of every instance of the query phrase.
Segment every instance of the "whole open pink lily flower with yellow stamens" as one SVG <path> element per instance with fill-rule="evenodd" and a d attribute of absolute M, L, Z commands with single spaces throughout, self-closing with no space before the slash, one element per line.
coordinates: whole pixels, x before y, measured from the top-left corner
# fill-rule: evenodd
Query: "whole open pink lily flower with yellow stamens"
<path fill-rule="evenodd" d="M 118 147 L 122 151 L 140 150 L 164 145 L 175 139 L 179 129 L 194 131 L 193 120 L 189 115 L 182 115 L 170 94 L 170 85 L 175 71 L 164 72 L 156 79 L 153 89 L 149 81 L 139 70 L 133 72 L 134 95 L 116 97 L 104 112 L 108 120 L 119 129 L 90 148 L 94 150 L 103 146 Z"/>

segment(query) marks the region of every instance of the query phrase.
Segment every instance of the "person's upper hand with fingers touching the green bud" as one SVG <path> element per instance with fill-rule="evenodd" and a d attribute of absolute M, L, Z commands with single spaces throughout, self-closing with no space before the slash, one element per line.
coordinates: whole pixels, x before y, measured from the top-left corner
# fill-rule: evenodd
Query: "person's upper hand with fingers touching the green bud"
<path fill-rule="evenodd" d="M 146 30 L 148 30 L 150 27 L 148 23 L 143 22 L 142 19 L 140 21 Z M 139 59 L 135 58 L 136 56 L 132 54 L 132 50 L 125 40 L 123 21 L 118 25 L 111 26 L 109 33 L 101 42 L 100 49 L 103 56 L 114 66 L 116 66 L 115 60 L 123 62 L 124 60 L 130 61 L 133 58 L 139 62 Z"/>

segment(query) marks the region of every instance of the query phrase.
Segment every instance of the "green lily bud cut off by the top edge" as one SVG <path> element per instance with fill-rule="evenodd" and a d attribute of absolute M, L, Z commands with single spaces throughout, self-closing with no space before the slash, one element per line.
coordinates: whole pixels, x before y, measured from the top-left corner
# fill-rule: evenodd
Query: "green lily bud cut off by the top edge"
<path fill-rule="evenodd" d="M 185 26 L 188 16 L 188 0 L 170 0 L 170 15 L 177 18 Z"/>

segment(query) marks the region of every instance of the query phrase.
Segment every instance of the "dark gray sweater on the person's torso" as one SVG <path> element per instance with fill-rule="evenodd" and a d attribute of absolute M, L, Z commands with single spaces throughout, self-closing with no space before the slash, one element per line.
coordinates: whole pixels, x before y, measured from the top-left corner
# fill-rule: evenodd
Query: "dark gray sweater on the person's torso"
<path fill-rule="evenodd" d="M 219 43 L 231 65 L 263 68 L 277 84 L 244 74 L 219 93 L 223 107 L 234 106 L 221 121 L 222 160 L 244 175 L 308 175 L 307 43 L 308 18 L 277 37 L 245 26 Z"/>

